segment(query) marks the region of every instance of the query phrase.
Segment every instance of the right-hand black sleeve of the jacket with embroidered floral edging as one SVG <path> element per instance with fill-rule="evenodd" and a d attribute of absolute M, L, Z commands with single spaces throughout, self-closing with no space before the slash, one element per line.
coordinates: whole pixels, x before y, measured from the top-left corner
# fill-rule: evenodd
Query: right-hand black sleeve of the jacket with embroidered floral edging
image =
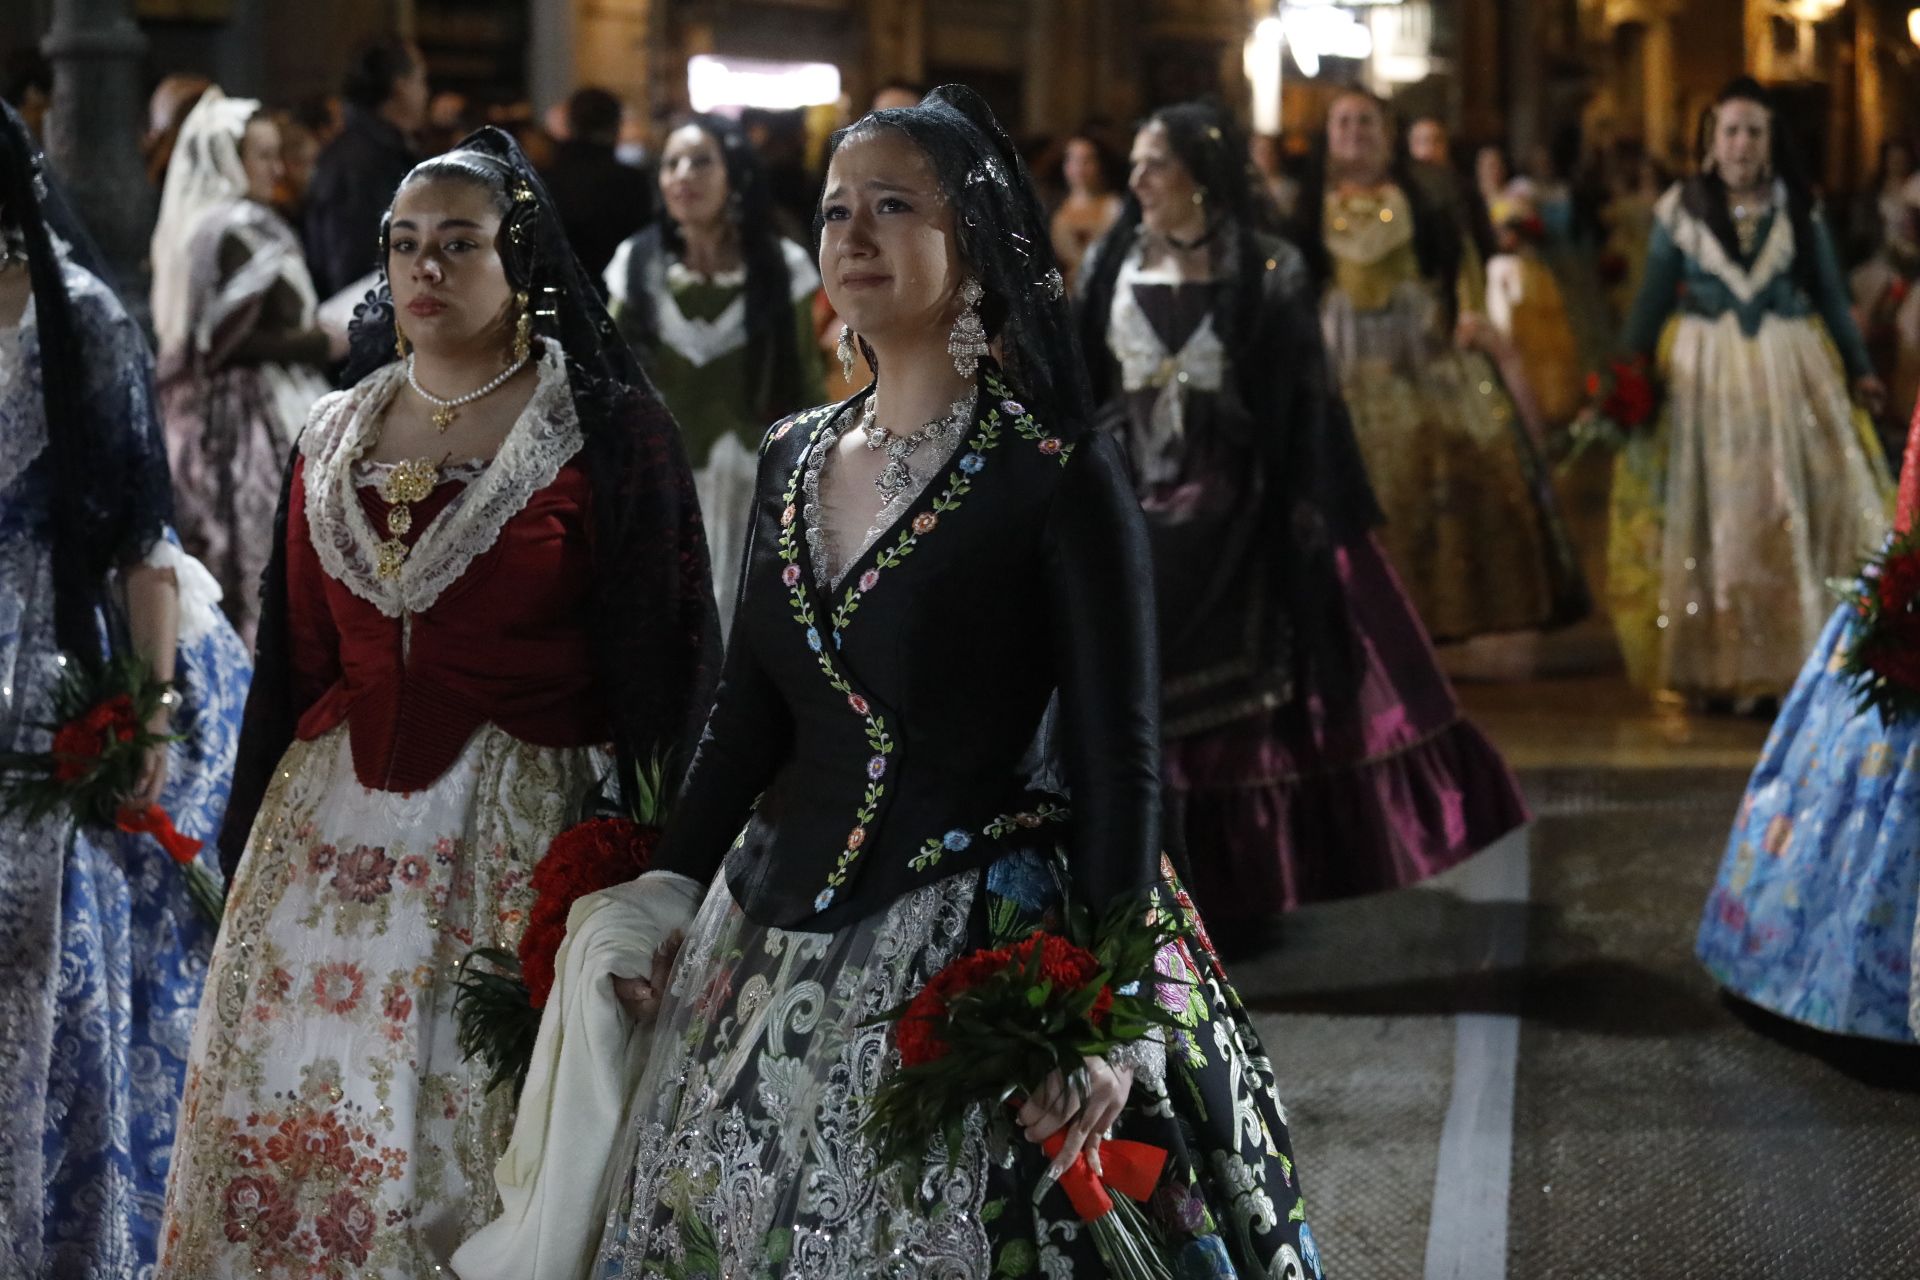
<path fill-rule="evenodd" d="M 1096 913 L 1160 865 L 1160 651 L 1146 520 L 1106 432 L 1087 432 L 1044 533 L 1048 647 L 1073 804 L 1069 871 Z"/>

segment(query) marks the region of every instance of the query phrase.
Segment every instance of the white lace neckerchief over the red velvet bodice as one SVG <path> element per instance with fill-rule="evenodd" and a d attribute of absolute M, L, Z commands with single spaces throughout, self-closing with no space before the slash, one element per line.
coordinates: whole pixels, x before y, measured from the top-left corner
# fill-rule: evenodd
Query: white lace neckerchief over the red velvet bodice
<path fill-rule="evenodd" d="M 353 464 L 372 447 L 380 415 L 407 382 L 407 370 L 399 363 L 386 365 L 315 405 L 300 453 L 305 457 L 307 537 L 321 568 L 388 618 L 432 608 L 474 558 L 499 541 L 507 520 L 553 484 L 580 451 L 580 415 L 557 342 L 541 342 L 538 370 L 534 397 L 493 462 L 434 516 L 394 578 L 374 572 L 374 547 L 384 539 L 361 507 Z"/>

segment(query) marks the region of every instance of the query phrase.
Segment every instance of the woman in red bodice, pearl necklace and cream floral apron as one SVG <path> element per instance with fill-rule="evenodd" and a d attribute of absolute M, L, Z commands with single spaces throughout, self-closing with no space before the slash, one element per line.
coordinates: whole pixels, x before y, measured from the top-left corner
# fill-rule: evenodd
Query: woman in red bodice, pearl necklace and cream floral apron
<path fill-rule="evenodd" d="M 461 960 L 516 946 L 547 842 L 708 702 L 678 432 L 526 159 L 422 163 L 382 242 L 267 574 L 165 1276 L 440 1270 L 513 1121 Z"/>

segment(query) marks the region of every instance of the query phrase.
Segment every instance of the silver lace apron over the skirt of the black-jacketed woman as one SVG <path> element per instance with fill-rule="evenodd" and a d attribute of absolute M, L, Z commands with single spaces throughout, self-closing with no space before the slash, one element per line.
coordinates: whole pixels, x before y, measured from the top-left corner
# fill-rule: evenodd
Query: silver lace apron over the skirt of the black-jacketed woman
<path fill-rule="evenodd" d="M 685 1228 L 710 1242 L 703 1274 L 985 1280 L 985 1115 L 958 1159 L 916 1180 L 876 1167 L 866 1100 L 899 1065 L 897 1006 L 966 946 L 977 875 L 927 885 L 831 935 L 760 929 L 714 883 L 674 969 L 630 1130 L 632 1178 L 593 1272 L 664 1274 Z M 718 992 L 718 994 L 716 994 Z M 791 1232 L 770 1267 L 772 1232 Z"/>

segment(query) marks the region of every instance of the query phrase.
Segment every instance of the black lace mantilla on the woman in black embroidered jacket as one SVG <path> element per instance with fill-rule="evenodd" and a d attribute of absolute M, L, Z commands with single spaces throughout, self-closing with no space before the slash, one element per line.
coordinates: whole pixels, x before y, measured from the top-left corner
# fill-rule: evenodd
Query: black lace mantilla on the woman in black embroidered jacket
<path fill-rule="evenodd" d="M 833 146 L 876 127 L 912 138 L 952 194 L 960 257 L 987 290 L 979 311 L 1008 382 L 1058 436 L 1085 432 L 1092 401 L 1073 311 L 1020 148 L 966 84 L 943 84 L 918 107 L 872 111 L 835 134 Z M 822 228 L 816 215 L 816 244 Z M 872 363 L 874 353 L 864 353 Z"/>

